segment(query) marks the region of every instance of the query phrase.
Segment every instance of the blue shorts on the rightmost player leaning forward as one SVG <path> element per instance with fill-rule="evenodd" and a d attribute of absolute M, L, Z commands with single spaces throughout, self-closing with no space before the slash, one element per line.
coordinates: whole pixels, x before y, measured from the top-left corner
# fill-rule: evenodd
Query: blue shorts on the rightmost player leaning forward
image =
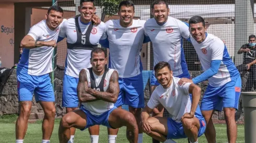
<path fill-rule="evenodd" d="M 220 87 L 208 85 L 201 101 L 201 110 L 222 111 L 224 107 L 231 107 L 238 110 L 239 97 L 241 93 L 240 75 Z"/>

